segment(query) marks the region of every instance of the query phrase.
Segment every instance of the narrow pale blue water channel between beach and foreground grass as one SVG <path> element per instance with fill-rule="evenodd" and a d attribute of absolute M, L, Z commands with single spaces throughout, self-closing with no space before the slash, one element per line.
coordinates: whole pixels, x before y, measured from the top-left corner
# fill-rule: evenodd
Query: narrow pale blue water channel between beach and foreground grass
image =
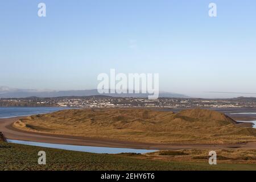
<path fill-rule="evenodd" d="M 27 142 L 21 140 L 8 140 L 10 143 L 26 144 L 29 146 L 39 146 L 47 148 L 59 148 L 63 150 L 72 150 L 80 152 L 91 152 L 97 154 L 119 154 L 119 153 L 147 153 L 155 152 L 155 150 L 143 150 L 143 149 L 132 149 L 132 148 L 111 148 L 111 147 L 90 147 L 90 146 L 73 146 L 68 144 L 52 144 L 52 143 L 42 143 L 42 142 Z"/>

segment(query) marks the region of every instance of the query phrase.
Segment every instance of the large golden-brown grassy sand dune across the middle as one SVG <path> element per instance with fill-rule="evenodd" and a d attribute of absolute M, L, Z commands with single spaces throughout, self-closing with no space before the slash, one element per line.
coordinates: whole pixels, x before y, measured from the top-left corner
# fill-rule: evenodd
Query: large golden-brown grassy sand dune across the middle
<path fill-rule="evenodd" d="M 156 143 L 241 143 L 256 130 L 212 110 L 179 113 L 146 109 L 62 110 L 32 115 L 14 124 L 22 130 Z"/>

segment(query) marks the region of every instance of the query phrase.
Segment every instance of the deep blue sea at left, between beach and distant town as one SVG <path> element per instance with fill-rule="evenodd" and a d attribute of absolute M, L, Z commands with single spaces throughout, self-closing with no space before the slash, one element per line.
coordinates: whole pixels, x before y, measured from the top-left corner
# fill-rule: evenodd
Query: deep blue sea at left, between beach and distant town
<path fill-rule="evenodd" d="M 52 113 L 63 109 L 67 109 L 67 107 L 0 107 L 0 118 Z"/>

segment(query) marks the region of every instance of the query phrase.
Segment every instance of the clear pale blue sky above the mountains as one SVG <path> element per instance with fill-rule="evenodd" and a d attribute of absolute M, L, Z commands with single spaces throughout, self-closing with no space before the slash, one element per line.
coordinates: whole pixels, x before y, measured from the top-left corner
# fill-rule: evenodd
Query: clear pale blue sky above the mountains
<path fill-rule="evenodd" d="M 114 68 L 159 73 L 166 92 L 256 97 L 255 32 L 255 0 L 0 1 L 0 85 L 94 89 Z"/>

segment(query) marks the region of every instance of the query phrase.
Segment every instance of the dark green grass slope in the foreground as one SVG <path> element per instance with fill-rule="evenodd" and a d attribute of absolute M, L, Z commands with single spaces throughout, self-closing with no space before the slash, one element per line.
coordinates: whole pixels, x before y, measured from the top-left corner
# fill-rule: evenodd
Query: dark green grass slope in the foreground
<path fill-rule="evenodd" d="M 46 151 L 47 165 L 38 164 Z M 122 155 L 91 154 L 0 142 L 0 170 L 256 170 L 256 164 L 164 162 Z"/>

